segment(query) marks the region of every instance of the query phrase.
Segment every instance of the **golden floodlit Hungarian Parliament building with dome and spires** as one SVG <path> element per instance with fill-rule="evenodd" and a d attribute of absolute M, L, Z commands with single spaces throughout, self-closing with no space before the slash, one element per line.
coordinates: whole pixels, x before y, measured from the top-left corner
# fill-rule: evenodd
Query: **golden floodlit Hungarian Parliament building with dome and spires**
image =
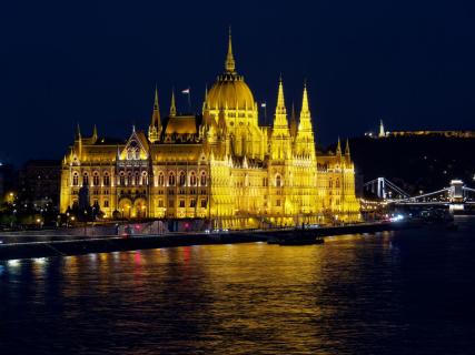
<path fill-rule="evenodd" d="M 86 194 L 83 193 L 86 190 Z M 325 224 L 360 219 L 348 142 L 316 151 L 307 88 L 288 121 L 283 80 L 271 126 L 236 71 L 229 36 L 225 71 L 201 114 L 161 118 L 157 90 L 148 132 L 102 139 L 79 125 L 61 168 L 60 209 L 99 205 L 106 219 L 199 219 L 215 227 Z"/>

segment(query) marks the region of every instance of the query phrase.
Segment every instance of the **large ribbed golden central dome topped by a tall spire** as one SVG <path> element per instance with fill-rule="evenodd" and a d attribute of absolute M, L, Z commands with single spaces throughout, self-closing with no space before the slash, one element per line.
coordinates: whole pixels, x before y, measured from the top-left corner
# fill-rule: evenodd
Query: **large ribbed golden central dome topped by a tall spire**
<path fill-rule="evenodd" d="M 225 73 L 218 77 L 217 82 L 209 90 L 206 105 L 210 110 L 253 110 L 254 97 L 241 75 L 236 72 L 232 57 L 231 36 L 229 33 L 228 55 L 225 63 Z"/>

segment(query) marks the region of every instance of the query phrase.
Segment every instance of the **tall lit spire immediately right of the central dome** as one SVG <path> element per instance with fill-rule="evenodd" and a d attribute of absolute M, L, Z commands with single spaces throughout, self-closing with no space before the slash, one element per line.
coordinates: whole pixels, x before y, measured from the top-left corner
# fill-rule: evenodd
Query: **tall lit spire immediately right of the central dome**
<path fill-rule="evenodd" d="M 287 122 L 287 110 L 284 100 L 283 78 L 279 78 L 279 89 L 277 94 L 277 106 L 274 115 L 273 136 L 270 145 L 270 156 L 273 160 L 287 160 L 290 158 L 290 132 Z"/>

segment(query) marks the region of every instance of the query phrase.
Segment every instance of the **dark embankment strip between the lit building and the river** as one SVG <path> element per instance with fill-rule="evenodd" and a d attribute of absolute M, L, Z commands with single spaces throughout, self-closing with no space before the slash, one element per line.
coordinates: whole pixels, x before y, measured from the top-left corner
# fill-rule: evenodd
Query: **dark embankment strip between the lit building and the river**
<path fill-rule="evenodd" d="M 295 236 L 296 234 L 299 236 L 301 235 L 303 237 L 316 237 L 355 233 L 375 233 L 418 226 L 420 226 L 420 223 L 418 222 L 392 222 L 319 227 L 311 230 L 289 229 L 239 232 L 230 231 L 211 234 L 177 233 L 132 237 L 97 236 L 88 240 L 3 244 L 0 245 L 0 260 L 68 256 L 188 245 L 267 242 L 269 237 L 278 236 L 279 239 L 286 239 Z"/>

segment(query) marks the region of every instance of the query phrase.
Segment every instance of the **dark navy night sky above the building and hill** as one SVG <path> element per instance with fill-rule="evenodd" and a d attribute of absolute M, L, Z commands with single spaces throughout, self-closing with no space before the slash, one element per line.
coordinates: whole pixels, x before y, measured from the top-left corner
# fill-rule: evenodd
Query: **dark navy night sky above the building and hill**
<path fill-rule="evenodd" d="M 75 122 L 89 134 L 146 129 L 157 82 L 222 71 L 232 26 L 239 73 L 274 112 L 307 78 L 318 140 L 376 130 L 475 129 L 473 1 L 7 1 L 0 6 L 0 159 L 61 158 Z M 181 95 L 179 108 L 186 109 Z M 270 114 L 269 114 L 270 115 Z"/>

